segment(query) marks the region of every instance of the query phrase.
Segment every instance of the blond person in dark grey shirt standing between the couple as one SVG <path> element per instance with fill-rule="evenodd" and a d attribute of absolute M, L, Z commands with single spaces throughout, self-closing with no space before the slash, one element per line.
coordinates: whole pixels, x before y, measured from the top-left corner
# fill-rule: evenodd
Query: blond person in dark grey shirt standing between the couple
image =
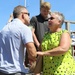
<path fill-rule="evenodd" d="M 38 48 L 44 33 L 48 31 L 48 17 L 50 17 L 51 4 L 49 2 L 43 2 L 40 7 L 40 14 L 34 16 L 30 20 L 30 26 L 33 27 L 34 33 L 38 42 L 35 42 L 36 47 Z"/>

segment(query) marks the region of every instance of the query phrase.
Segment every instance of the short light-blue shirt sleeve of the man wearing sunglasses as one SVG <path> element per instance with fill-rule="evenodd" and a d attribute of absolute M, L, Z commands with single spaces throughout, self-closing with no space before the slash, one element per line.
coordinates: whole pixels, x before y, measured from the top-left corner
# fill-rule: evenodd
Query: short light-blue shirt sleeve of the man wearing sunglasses
<path fill-rule="evenodd" d="M 22 29 L 22 41 L 24 44 L 33 42 L 32 32 L 29 27 Z"/>

